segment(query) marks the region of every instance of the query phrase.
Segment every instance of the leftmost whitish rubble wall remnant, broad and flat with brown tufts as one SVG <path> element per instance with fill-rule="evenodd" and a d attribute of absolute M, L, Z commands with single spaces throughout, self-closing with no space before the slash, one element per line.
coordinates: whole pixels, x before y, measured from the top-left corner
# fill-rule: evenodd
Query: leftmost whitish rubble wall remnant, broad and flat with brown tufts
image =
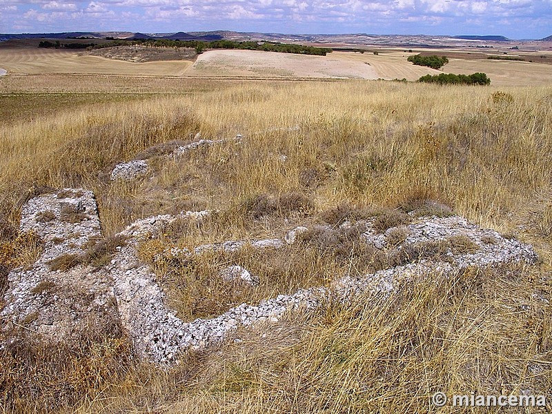
<path fill-rule="evenodd" d="M 106 272 L 78 262 L 101 235 L 92 192 L 66 188 L 30 199 L 21 210 L 20 230 L 37 233 L 43 253 L 31 266 L 8 275 L 6 305 L 0 313 L 5 331 L 24 326 L 62 342 L 78 336 L 88 323 L 119 323 Z"/>

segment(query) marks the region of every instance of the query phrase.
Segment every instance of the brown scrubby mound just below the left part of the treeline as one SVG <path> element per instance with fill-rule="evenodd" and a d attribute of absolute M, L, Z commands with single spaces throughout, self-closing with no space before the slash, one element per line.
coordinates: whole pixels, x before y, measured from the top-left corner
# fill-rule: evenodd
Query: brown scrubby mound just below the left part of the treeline
<path fill-rule="evenodd" d="M 88 55 L 106 57 L 129 62 L 195 60 L 196 52 L 192 48 L 148 48 L 147 46 L 115 46 L 95 49 Z"/>

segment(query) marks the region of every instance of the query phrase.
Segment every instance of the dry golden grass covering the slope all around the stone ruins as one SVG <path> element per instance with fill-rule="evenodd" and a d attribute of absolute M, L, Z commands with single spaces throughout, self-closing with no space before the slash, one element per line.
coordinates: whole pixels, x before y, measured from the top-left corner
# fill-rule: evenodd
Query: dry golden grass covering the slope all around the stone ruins
<path fill-rule="evenodd" d="M 17 224 L 22 200 L 41 186 L 95 190 L 107 234 L 144 215 L 218 208 L 224 214 L 210 231 L 177 240 L 198 244 L 281 233 L 289 226 L 281 217 L 252 224 L 242 214 L 259 194 L 311 199 L 312 217 L 292 217 L 297 223 L 316 221 L 343 201 L 394 207 L 421 195 L 535 243 L 540 267 L 435 275 L 435 283 L 405 286 L 385 304 L 368 297 L 262 333 L 239 333 L 244 341 L 224 345 L 224 353 L 188 355 L 166 372 L 113 357 L 120 344 L 112 342 L 99 353 L 86 348 L 63 369 L 34 362 L 36 369 L 17 371 L 21 364 L 3 359 L 0 384 L 15 393 L 10 404 L 39 410 L 55 401 L 83 413 L 391 413 L 427 412 L 437 390 L 551 389 L 552 315 L 536 298 L 551 299 L 552 88 L 498 94 L 493 87 L 384 81 L 212 86 L 140 101 L 98 95 L 93 111 L 59 105 L 32 121 L 14 116 L 0 126 L 1 214 Z M 152 178 L 135 184 L 109 184 L 102 175 L 152 145 L 190 141 L 197 132 L 241 133 L 244 142 L 155 161 Z M 302 282 L 331 273 L 315 258 L 304 259 Z M 42 390 L 38 398 L 21 386 L 33 381 Z"/>

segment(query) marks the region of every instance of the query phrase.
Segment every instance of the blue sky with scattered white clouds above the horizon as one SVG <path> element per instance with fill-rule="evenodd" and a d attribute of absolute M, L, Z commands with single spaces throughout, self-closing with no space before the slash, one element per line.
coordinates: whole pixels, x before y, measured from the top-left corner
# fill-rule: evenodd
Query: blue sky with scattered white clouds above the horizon
<path fill-rule="evenodd" d="M 0 33 L 552 35 L 552 0 L 0 0 Z"/>

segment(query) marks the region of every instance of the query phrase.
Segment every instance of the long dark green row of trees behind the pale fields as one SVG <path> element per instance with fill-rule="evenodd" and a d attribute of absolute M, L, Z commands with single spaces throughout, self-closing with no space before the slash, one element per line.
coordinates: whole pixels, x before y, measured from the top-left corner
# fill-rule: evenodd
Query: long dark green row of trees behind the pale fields
<path fill-rule="evenodd" d="M 232 41 L 232 40 L 170 40 L 170 39 L 144 39 L 144 40 L 114 40 L 108 43 L 60 43 L 56 41 L 41 41 L 39 48 L 68 48 L 68 49 L 102 49 L 112 48 L 114 46 L 148 46 L 153 48 L 194 48 L 197 53 L 206 49 L 245 49 L 245 50 L 263 50 L 265 52 L 297 53 L 300 55 L 320 55 L 326 56 L 331 53 L 328 48 L 315 48 L 313 46 L 303 46 L 289 43 L 257 42 L 257 41 Z"/>

